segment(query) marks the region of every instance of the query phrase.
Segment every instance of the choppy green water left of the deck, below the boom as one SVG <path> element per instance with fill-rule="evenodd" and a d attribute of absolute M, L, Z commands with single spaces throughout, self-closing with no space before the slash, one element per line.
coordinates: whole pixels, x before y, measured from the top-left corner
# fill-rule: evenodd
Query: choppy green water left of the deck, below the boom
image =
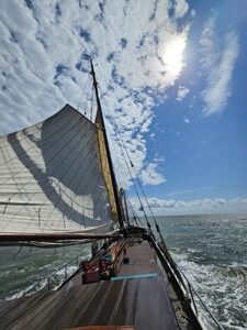
<path fill-rule="evenodd" d="M 77 268 L 79 261 L 89 254 L 89 246 L 67 246 L 59 249 L 38 248 L 0 248 L 0 299 L 18 298 L 25 289 L 38 290 L 47 285 L 47 276 L 52 276 L 50 285 L 58 286 Z M 60 268 L 71 261 L 67 267 Z M 34 285 L 38 284 L 33 288 Z"/>

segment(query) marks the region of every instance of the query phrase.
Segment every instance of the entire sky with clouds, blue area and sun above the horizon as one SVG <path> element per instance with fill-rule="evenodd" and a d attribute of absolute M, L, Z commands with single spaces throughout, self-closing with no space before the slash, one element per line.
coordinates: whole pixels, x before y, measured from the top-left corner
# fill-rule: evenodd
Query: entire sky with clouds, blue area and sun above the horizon
<path fill-rule="evenodd" d="M 243 0 L 2 0 L 0 134 L 87 112 L 89 54 L 136 207 L 110 116 L 157 215 L 246 212 L 246 29 Z"/>

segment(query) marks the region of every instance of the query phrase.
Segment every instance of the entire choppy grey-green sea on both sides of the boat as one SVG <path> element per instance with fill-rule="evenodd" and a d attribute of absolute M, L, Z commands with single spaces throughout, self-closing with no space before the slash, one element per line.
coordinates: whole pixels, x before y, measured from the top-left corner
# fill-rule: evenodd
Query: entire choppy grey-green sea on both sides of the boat
<path fill-rule="evenodd" d="M 247 329 L 247 215 L 157 217 L 157 221 L 173 258 L 224 328 Z M 19 297 L 59 264 L 89 252 L 85 245 L 0 248 L 0 299 Z M 58 271 L 57 284 L 74 270 L 76 265 L 69 264 L 66 274 Z"/>

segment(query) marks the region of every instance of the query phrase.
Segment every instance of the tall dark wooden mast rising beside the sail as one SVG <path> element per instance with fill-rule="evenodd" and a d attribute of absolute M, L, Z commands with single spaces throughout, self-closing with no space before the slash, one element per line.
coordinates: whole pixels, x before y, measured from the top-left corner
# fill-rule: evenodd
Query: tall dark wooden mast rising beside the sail
<path fill-rule="evenodd" d="M 93 80 L 92 84 L 93 84 L 93 87 L 94 87 L 96 99 L 97 99 L 96 124 L 97 124 L 98 129 L 101 130 L 101 132 L 103 134 L 105 154 L 106 154 L 106 160 L 108 160 L 108 165 L 109 165 L 109 170 L 110 170 L 110 176 L 111 176 L 111 182 L 112 182 L 114 202 L 115 202 L 115 207 L 116 207 L 117 221 L 120 223 L 120 227 L 123 228 L 124 227 L 124 224 L 123 224 L 123 212 L 122 212 L 121 205 L 120 205 L 117 184 L 116 184 L 115 174 L 114 174 L 114 170 L 113 170 L 113 164 L 112 164 L 108 136 L 106 136 L 106 131 L 105 131 L 105 125 L 104 125 L 103 112 L 102 112 L 102 107 L 101 107 L 98 86 L 97 86 L 96 73 L 94 73 L 94 68 L 93 68 L 91 58 L 90 58 L 90 65 L 91 65 L 91 75 L 92 75 L 92 80 Z"/>

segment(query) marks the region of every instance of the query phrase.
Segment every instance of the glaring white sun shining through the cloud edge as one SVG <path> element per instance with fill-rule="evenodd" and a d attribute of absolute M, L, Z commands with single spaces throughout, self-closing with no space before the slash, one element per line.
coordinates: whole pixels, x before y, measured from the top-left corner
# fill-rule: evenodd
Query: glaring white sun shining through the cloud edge
<path fill-rule="evenodd" d="M 165 48 L 162 59 L 167 73 L 172 76 L 178 76 L 184 66 L 183 51 L 186 48 L 186 40 L 183 37 L 176 37 L 170 41 Z"/>

